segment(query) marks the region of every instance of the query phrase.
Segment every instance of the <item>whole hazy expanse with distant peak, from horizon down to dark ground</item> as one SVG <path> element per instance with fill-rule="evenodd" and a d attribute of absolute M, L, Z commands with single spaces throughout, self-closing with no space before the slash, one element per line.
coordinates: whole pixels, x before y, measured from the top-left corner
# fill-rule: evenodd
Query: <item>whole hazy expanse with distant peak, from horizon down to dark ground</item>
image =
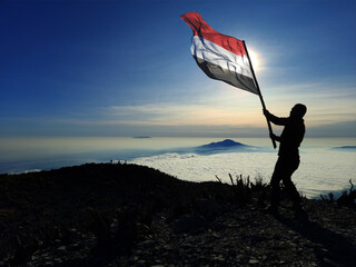
<path fill-rule="evenodd" d="M 211 141 L 211 139 L 210 139 Z M 221 142 L 221 139 L 216 141 Z M 86 162 L 116 162 L 117 160 L 159 169 L 179 179 L 191 181 L 217 180 L 230 182 L 233 176 L 261 177 L 269 181 L 277 160 L 277 150 L 258 144 L 257 139 L 215 146 L 208 140 L 152 138 L 112 139 L 39 139 L 26 141 L 21 149 L 7 147 L 3 141 L 0 155 L 0 174 L 44 170 Z M 13 140 L 13 144 L 18 144 Z M 60 144 L 60 148 L 56 144 Z M 300 166 L 293 175 L 297 189 L 309 198 L 329 191 L 349 188 L 356 184 L 356 146 L 354 139 L 307 139 L 300 149 Z M 1 142 L 0 142 L 1 145 Z M 178 146 L 179 145 L 179 146 Z M 208 145 L 208 146 L 206 146 Z M 210 146 L 211 145 L 211 146 Z M 226 144 L 224 144 L 226 145 Z M 352 146 L 349 146 L 352 145 Z M 1 146 L 0 146 L 1 148 Z M 4 148 L 4 149 L 3 149 Z"/>

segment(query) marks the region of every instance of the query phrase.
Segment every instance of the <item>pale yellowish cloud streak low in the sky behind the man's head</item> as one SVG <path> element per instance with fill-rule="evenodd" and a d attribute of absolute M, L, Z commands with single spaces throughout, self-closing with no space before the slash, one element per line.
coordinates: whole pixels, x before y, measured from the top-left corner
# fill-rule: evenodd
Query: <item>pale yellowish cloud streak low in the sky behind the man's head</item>
<path fill-rule="evenodd" d="M 234 89 L 234 88 L 233 88 Z M 265 127 L 259 100 L 241 90 L 220 88 L 201 103 L 146 103 L 140 106 L 111 106 L 105 108 L 102 125 L 141 126 L 211 126 Z M 228 90 L 228 91 L 227 91 Z M 335 90 L 323 82 L 280 86 L 266 89 L 267 108 L 276 116 L 289 116 L 296 102 L 308 107 L 305 117 L 308 127 L 334 126 L 354 120 L 356 92 L 353 86 Z M 344 134 L 343 134 L 344 135 Z"/>

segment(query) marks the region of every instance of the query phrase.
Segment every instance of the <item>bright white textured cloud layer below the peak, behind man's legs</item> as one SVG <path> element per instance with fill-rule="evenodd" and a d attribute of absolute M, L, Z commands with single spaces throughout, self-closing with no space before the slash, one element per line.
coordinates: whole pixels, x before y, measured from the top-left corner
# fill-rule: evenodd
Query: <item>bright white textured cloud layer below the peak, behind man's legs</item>
<path fill-rule="evenodd" d="M 140 157 L 130 162 L 159 169 L 179 179 L 192 181 L 217 180 L 230 182 L 233 176 L 261 177 L 266 182 L 273 174 L 277 155 L 271 152 L 219 152 L 211 155 L 168 152 Z M 336 194 L 356 184 L 355 152 L 309 150 L 300 155 L 300 166 L 293 181 L 306 197 L 316 198 L 330 191 Z"/>

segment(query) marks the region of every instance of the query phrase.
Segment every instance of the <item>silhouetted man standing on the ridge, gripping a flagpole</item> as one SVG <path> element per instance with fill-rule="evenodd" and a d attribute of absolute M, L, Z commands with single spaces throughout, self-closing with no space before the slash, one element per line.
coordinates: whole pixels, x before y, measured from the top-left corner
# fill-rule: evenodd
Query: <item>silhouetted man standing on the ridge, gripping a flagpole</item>
<path fill-rule="evenodd" d="M 275 125 L 285 126 L 280 137 L 270 135 L 276 141 L 279 141 L 278 160 L 274 174 L 270 179 L 271 187 L 271 200 L 267 211 L 271 214 L 278 212 L 280 188 L 279 184 L 283 181 L 286 191 L 289 194 L 294 204 L 295 211 L 301 211 L 300 196 L 291 181 L 293 172 L 299 167 L 299 146 L 303 141 L 305 134 L 304 115 L 307 108 L 301 103 L 297 103 L 290 110 L 288 118 L 278 118 L 268 110 L 264 110 L 264 113 L 268 120 Z"/>

